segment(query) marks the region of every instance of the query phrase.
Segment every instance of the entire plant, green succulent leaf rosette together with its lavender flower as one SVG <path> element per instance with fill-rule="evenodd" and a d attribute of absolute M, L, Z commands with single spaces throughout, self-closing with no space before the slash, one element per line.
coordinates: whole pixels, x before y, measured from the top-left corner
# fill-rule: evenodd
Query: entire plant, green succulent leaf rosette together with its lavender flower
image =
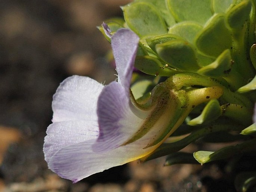
<path fill-rule="evenodd" d="M 103 86 L 73 76 L 60 85 L 44 144 L 49 168 L 78 182 L 136 159 L 204 164 L 255 151 L 256 1 L 135 0 L 121 8 L 124 19 L 99 27 L 118 80 Z M 179 152 L 198 139 L 237 144 Z"/>

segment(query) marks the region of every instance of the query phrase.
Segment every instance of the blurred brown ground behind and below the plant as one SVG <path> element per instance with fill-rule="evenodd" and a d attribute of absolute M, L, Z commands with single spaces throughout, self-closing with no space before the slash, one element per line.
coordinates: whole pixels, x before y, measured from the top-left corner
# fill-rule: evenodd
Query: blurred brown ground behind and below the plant
<path fill-rule="evenodd" d="M 163 167 L 161 158 L 76 184 L 47 168 L 42 148 L 52 96 L 74 74 L 105 84 L 116 78 L 110 44 L 96 26 L 122 16 L 129 1 L 0 0 L 0 192 L 206 191 L 202 175 L 222 176 L 215 165 L 200 175 L 201 165 Z"/>

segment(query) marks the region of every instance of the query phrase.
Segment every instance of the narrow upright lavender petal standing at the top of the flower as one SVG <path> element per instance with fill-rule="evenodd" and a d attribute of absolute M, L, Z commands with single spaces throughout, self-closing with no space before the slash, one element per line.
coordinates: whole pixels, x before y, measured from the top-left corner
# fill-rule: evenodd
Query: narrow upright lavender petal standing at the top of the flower
<path fill-rule="evenodd" d="M 138 49 L 139 37 L 129 29 L 120 29 L 112 36 L 111 46 L 118 73 L 118 82 L 129 92 Z"/>

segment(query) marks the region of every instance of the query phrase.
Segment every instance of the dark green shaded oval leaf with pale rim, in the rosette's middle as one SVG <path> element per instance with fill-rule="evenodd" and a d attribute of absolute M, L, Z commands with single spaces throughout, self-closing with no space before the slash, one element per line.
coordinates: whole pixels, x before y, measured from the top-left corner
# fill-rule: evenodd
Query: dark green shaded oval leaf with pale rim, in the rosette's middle
<path fill-rule="evenodd" d="M 182 71 L 197 71 L 194 47 L 187 41 L 176 39 L 166 43 L 157 44 L 155 49 L 161 59 L 172 67 Z"/>

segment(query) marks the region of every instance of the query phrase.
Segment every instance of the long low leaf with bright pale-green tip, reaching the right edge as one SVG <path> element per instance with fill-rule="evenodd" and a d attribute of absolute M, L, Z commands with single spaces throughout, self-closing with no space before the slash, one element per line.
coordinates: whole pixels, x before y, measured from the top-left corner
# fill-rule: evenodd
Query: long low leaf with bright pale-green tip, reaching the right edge
<path fill-rule="evenodd" d="M 255 149 L 256 139 L 248 140 L 246 142 L 237 144 L 235 146 L 228 146 L 219 149 L 216 152 L 213 151 L 197 151 L 193 153 L 194 158 L 201 164 L 230 158 L 236 154 L 248 152 Z"/>

